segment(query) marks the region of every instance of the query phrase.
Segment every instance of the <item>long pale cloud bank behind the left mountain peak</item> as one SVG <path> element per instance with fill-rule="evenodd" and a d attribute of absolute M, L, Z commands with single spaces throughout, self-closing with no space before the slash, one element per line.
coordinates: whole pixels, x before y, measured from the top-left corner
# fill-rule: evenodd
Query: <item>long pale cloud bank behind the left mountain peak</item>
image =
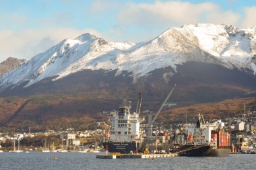
<path fill-rule="evenodd" d="M 30 59 L 32 56 L 51 48 L 65 38 L 76 38 L 89 32 L 101 37 L 93 29 L 75 30 L 72 28 L 26 30 L 24 32 L 11 32 L 0 30 L 0 60 L 9 56 Z"/>

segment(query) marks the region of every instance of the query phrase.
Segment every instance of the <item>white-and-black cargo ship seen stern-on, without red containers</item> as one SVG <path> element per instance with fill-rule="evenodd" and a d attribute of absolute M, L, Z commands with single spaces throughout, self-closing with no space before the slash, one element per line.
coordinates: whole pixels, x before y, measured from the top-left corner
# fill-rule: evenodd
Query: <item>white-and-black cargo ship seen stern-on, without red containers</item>
<path fill-rule="evenodd" d="M 139 118 L 141 99 L 139 96 L 136 112 L 133 113 L 130 112 L 131 101 L 123 99 L 119 112 L 108 119 L 111 128 L 106 130 L 102 142 L 108 153 L 127 154 L 140 151 L 143 142 L 142 132 L 140 131 L 140 123 L 143 119 Z"/>

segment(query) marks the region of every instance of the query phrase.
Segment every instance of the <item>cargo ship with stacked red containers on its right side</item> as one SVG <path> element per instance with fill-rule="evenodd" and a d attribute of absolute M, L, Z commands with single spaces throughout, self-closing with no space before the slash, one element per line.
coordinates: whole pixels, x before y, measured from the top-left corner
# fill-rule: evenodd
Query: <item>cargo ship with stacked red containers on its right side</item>
<path fill-rule="evenodd" d="M 205 124 L 199 114 L 196 124 L 186 124 L 187 140 L 181 153 L 187 157 L 227 157 L 230 153 L 230 134 L 221 122 Z"/>

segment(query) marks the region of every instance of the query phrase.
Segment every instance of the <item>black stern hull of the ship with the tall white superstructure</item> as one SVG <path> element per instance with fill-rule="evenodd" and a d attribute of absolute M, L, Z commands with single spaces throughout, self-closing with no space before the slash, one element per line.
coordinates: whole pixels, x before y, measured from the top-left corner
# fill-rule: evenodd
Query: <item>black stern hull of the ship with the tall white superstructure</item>
<path fill-rule="evenodd" d="M 128 154 L 137 150 L 136 142 L 103 142 L 103 146 L 109 153 Z"/>

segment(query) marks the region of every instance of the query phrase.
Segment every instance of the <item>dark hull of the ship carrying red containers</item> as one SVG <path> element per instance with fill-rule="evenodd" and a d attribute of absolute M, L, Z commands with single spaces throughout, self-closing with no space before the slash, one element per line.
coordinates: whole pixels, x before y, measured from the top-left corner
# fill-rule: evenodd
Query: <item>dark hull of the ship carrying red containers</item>
<path fill-rule="evenodd" d="M 230 148 L 217 148 L 216 146 L 183 146 L 187 157 L 228 157 Z"/>

